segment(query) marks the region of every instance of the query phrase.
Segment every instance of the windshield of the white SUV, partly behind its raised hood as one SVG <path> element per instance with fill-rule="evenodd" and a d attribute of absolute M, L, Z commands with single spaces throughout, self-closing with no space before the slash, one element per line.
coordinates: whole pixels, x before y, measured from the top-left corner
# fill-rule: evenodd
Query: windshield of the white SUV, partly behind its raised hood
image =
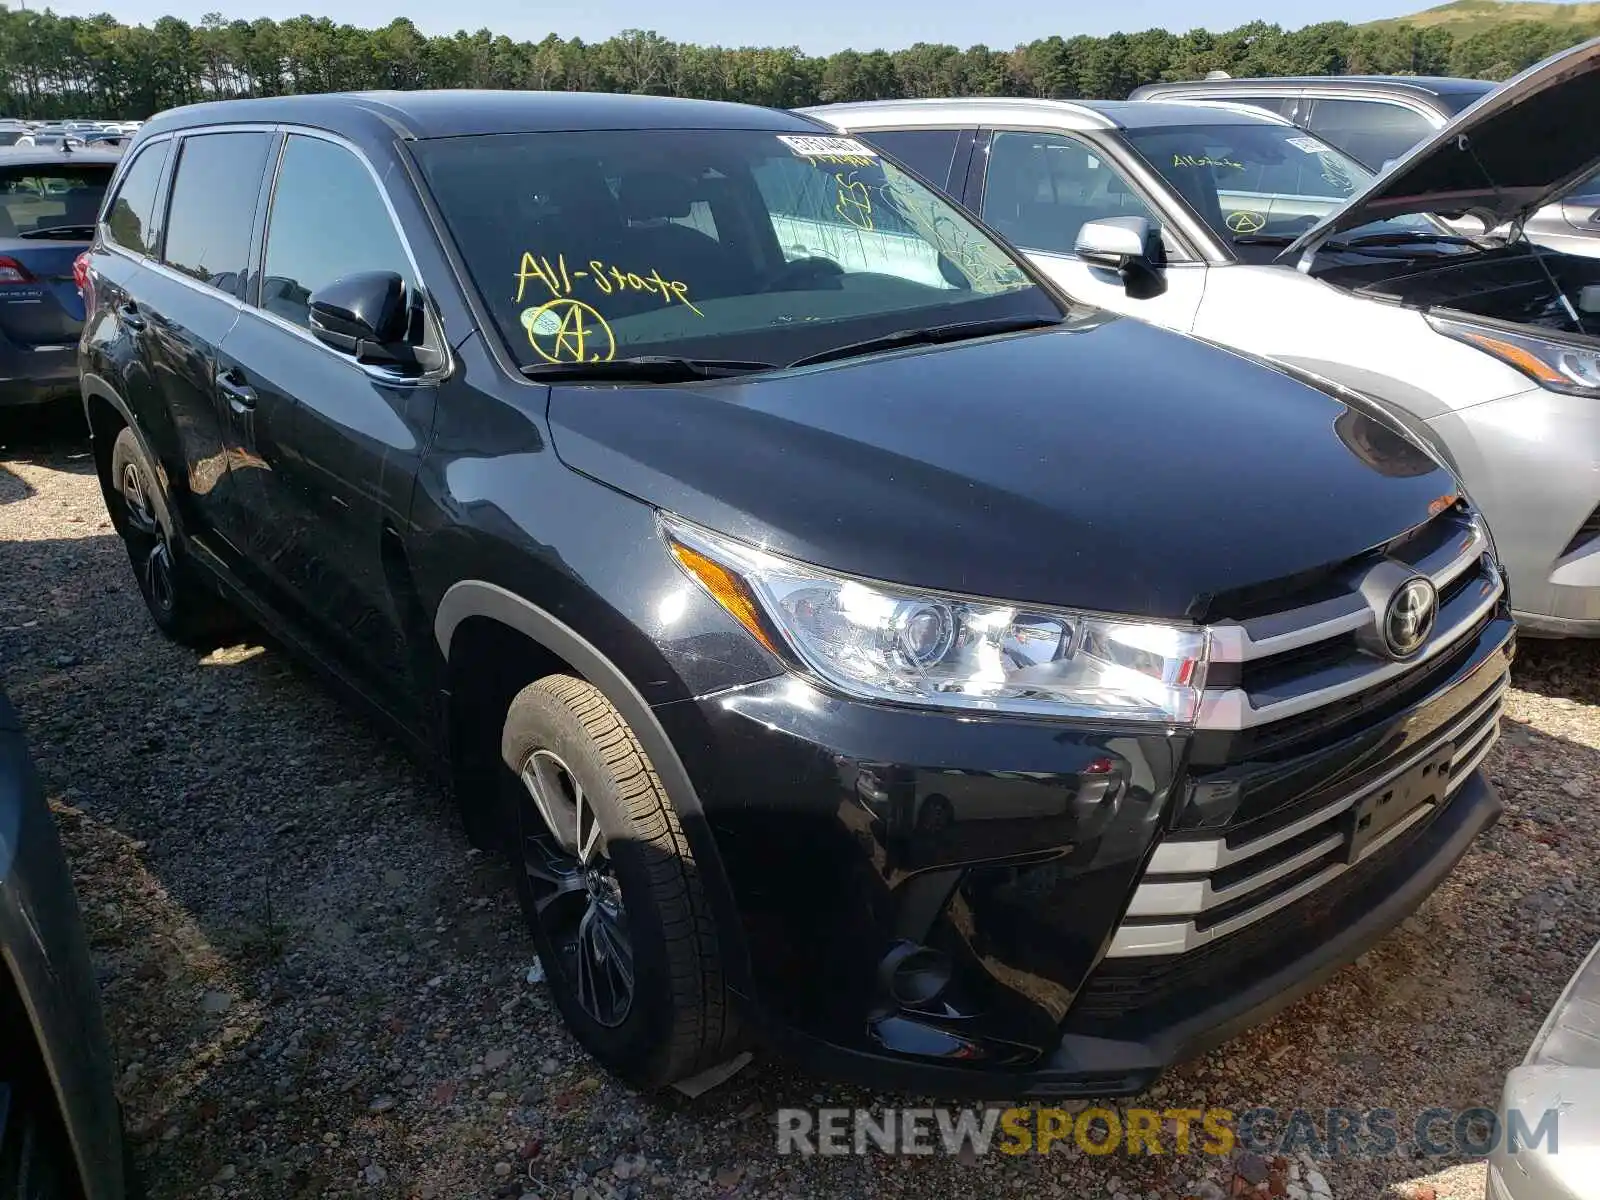
<path fill-rule="evenodd" d="M 1270 259 L 1373 181 L 1358 162 L 1293 125 L 1184 125 L 1123 136 L 1246 261 Z M 1400 216 L 1341 238 L 1448 232 L 1426 216 Z"/>

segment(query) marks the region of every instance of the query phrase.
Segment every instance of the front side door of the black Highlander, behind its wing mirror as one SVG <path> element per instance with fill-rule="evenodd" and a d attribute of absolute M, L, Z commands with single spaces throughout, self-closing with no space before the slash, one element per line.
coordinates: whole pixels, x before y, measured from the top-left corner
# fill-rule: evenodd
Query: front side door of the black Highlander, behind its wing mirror
<path fill-rule="evenodd" d="M 416 688 L 390 579 L 411 483 L 434 421 L 435 374 L 363 365 L 310 333 L 312 293 L 358 272 L 398 274 L 413 336 L 443 349 L 411 254 L 366 162 L 342 142 L 291 131 L 218 386 L 248 435 L 251 582 L 405 718 Z"/>

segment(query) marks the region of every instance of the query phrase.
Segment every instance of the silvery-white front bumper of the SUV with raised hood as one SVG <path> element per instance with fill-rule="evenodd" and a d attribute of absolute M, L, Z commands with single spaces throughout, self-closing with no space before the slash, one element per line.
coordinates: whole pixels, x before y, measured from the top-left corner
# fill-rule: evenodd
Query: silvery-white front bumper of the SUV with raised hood
<path fill-rule="evenodd" d="M 1494 534 L 1518 624 L 1600 637 L 1600 403 L 1536 387 L 1429 424 Z"/>

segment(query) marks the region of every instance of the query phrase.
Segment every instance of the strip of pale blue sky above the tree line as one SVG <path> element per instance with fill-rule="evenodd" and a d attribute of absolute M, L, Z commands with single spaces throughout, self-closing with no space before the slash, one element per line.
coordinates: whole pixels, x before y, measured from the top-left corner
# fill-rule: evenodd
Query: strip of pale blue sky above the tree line
<path fill-rule="evenodd" d="M 10 0 L 16 3 L 16 0 Z M 1171 29 L 1182 32 L 1232 29 L 1256 18 L 1285 29 L 1314 21 L 1370 21 L 1400 16 L 1429 6 L 1432 0 L 1296 0 L 1270 5 L 1262 0 L 1118 0 L 1118 3 L 978 5 L 970 0 L 570 0 L 568 3 L 512 3 L 510 0 L 454 0 L 442 5 L 418 0 L 346 0 L 338 6 L 307 10 L 302 0 L 69 0 L 50 5 L 62 14 L 110 11 L 128 24 L 149 24 L 158 16 L 198 21 L 221 10 L 229 19 L 270 16 L 283 19 L 312 11 L 355 26 L 382 26 L 408 16 L 424 34 L 488 27 L 518 40 L 546 34 L 598 42 L 622 29 L 653 29 L 675 42 L 704 45 L 797 45 L 811 54 L 856 50 L 899 50 L 914 42 L 950 42 L 970 46 L 982 42 L 1010 50 L 1050 34 L 1110 34 L 1118 29 Z M 30 5 L 32 6 L 32 5 Z M 43 3 L 37 6 L 43 8 Z M 1074 11 L 1077 10 L 1077 11 Z"/>

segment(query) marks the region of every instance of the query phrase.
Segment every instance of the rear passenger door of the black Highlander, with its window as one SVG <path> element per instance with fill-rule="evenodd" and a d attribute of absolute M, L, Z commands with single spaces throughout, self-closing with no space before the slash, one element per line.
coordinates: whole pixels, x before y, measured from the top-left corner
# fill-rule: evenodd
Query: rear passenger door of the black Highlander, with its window
<path fill-rule="evenodd" d="M 238 320 L 256 206 L 275 134 L 195 133 L 178 141 L 158 262 L 122 309 L 146 344 L 150 378 L 176 437 L 174 498 L 187 531 L 237 562 L 245 515 L 227 461 L 216 352 Z M 115 218 L 115 214 L 114 214 Z"/>

